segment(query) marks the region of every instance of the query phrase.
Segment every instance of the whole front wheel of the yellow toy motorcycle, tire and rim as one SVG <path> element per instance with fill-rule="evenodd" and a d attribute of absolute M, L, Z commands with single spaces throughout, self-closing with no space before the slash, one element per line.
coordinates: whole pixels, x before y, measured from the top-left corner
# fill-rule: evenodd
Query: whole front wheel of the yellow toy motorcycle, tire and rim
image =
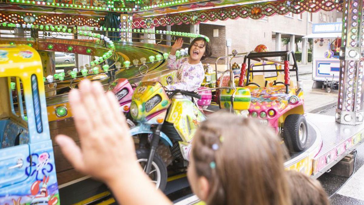
<path fill-rule="evenodd" d="M 147 166 L 147 160 L 149 158 L 149 150 L 147 149 L 138 149 L 137 152 L 137 162 L 142 166 L 143 169 Z M 150 173 L 148 174 L 153 183 L 155 183 L 155 187 L 160 190 L 164 190 L 167 185 L 167 167 L 163 162 L 163 159 L 155 153 L 154 159 L 152 162 L 152 167 L 150 169 Z"/>

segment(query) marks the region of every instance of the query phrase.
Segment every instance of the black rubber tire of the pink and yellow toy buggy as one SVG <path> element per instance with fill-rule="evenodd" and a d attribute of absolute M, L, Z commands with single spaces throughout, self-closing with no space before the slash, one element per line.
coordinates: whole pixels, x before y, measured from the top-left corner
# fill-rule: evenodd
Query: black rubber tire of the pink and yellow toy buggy
<path fill-rule="evenodd" d="M 301 142 L 299 137 L 300 125 L 305 125 L 305 140 Z M 307 144 L 308 131 L 306 118 L 300 114 L 288 115 L 284 121 L 283 126 L 284 142 L 290 152 L 303 151 Z"/>

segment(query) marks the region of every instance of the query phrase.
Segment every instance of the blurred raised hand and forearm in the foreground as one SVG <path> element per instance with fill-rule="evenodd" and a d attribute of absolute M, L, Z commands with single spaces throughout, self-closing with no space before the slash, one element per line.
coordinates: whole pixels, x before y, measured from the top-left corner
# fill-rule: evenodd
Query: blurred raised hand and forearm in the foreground
<path fill-rule="evenodd" d="M 58 135 L 64 156 L 76 170 L 104 181 L 120 204 L 171 204 L 136 162 L 134 142 L 114 94 L 104 93 L 98 81 L 84 80 L 79 87 L 69 98 L 81 145 Z"/>

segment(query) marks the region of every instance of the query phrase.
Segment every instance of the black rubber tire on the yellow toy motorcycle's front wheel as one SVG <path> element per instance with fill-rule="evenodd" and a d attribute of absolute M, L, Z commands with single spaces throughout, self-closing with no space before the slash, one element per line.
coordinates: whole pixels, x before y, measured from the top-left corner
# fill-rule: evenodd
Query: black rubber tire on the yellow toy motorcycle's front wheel
<path fill-rule="evenodd" d="M 148 159 L 149 158 L 149 150 L 147 149 L 137 149 L 137 158 L 138 159 Z M 154 154 L 153 162 L 158 166 L 159 170 L 161 171 L 161 183 L 159 184 L 158 189 L 164 191 L 167 185 L 167 167 L 164 163 L 161 156 L 159 156 L 157 153 Z"/>

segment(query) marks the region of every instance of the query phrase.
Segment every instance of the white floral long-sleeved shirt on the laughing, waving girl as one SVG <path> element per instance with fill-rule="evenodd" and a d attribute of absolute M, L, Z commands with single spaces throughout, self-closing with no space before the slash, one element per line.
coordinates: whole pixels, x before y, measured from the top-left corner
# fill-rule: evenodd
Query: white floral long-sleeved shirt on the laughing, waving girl
<path fill-rule="evenodd" d="M 202 63 L 192 65 L 188 63 L 188 60 L 188 57 L 177 59 L 175 55 L 169 55 L 167 68 L 177 70 L 177 75 L 174 80 L 175 83 L 167 85 L 167 89 L 194 91 L 201 86 L 205 78 L 205 70 Z"/>

